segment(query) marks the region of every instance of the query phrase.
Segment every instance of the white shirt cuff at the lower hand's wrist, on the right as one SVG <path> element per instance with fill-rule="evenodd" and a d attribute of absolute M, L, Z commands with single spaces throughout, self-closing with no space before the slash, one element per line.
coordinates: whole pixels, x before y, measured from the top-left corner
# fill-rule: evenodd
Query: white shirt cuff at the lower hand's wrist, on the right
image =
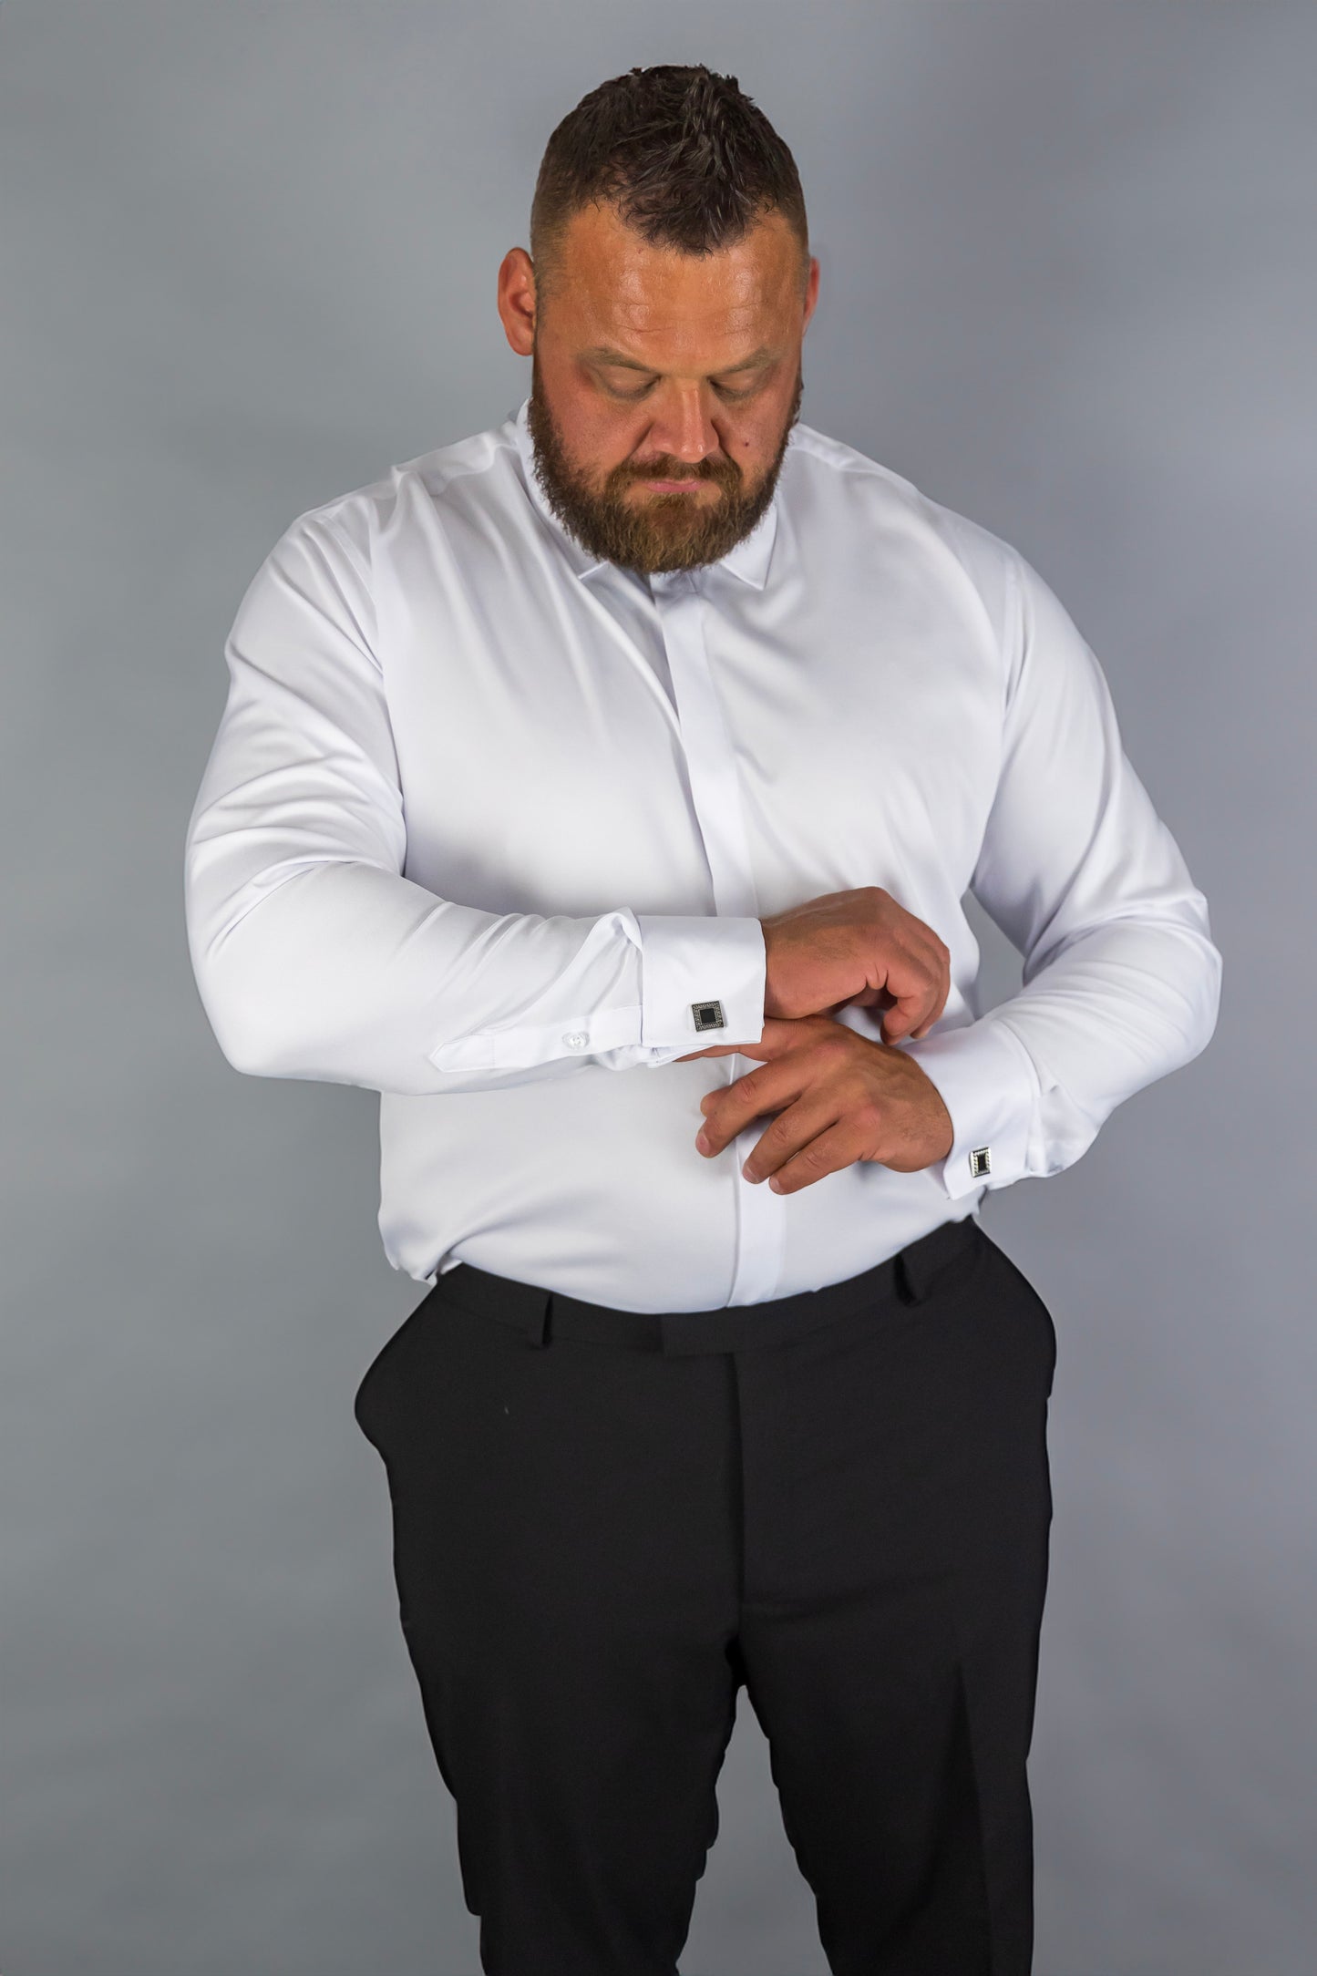
<path fill-rule="evenodd" d="M 952 1114 L 952 1150 L 926 1170 L 948 1201 L 1021 1180 L 1029 1172 L 1039 1073 L 1015 1031 L 989 1014 L 896 1047 L 926 1071 Z"/>

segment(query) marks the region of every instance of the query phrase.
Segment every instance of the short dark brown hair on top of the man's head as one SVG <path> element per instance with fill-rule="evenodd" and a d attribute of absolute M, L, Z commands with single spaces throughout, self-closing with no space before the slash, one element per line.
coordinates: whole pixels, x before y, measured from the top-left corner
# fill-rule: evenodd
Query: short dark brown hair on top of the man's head
<path fill-rule="evenodd" d="M 567 221 L 612 202 L 654 247 L 713 253 L 768 211 L 790 223 L 810 275 L 810 227 L 796 160 L 735 75 L 659 63 L 614 75 L 553 130 L 531 200 L 539 296 L 553 285 Z"/>

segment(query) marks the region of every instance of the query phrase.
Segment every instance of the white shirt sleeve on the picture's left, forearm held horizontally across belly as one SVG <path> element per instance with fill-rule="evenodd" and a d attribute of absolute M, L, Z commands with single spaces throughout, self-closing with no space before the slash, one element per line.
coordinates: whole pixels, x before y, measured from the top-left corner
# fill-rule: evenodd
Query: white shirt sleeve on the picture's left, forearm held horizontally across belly
<path fill-rule="evenodd" d="M 235 1069 L 425 1097 L 760 1039 L 758 919 L 486 913 L 403 875 L 369 571 L 328 516 L 274 543 L 225 662 L 184 895 Z"/>

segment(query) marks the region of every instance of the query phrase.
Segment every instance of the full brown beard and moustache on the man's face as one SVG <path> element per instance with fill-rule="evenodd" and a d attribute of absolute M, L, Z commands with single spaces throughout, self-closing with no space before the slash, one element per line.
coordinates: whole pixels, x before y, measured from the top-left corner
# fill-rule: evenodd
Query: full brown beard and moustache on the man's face
<path fill-rule="evenodd" d="M 802 364 L 796 371 L 796 391 L 774 458 L 752 488 L 744 486 L 744 476 L 731 458 L 677 460 L 669 453 L 646 460 L 644 466 L 622 460 L 596 486 L 567 456 L 561 427 L 543 393 L 539 356 L 531 350 L 527 429 L 535 451 L 535 478 L 563 528 L 590 555 L 620 563 L 642 577 L 717 563 L 768 512 L 782 472 L 786 443 L 800 417 L 804 387 Z M 634 480 L 650 478 L 715 480 L 721 494 L 717 500 L 695 492 L 648 492 L 642 500 L 626 498 Z"/>

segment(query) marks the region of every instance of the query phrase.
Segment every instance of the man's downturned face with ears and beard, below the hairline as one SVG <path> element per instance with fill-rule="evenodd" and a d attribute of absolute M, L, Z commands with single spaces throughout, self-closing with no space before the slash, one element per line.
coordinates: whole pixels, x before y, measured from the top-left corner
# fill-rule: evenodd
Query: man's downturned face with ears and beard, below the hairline
<path fill-rule="evenodd" d="M 804 391 L 817 261 L 778 213 L 709 255 L 652 247 L 612 206 L 575 213 L 539 306 L 529 257 L 500 316 L 531 356 L 529 433 L 549 506 L 640 575 L 713 563 L 768 508 Z"/>

